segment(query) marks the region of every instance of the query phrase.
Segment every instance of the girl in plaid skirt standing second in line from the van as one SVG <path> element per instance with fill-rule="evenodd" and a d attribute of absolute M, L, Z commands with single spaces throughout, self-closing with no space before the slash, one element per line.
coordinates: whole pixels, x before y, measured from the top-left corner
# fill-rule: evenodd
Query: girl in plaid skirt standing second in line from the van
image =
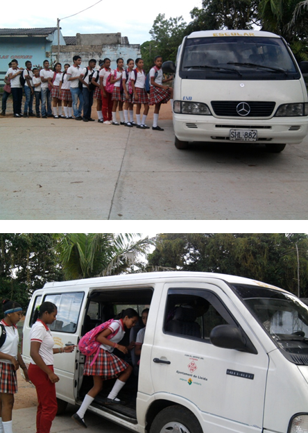
<path fill-rule="evenodd" d="M 132 85 L 132 102 L 137 105 L 136 108 L 136 119 L 137 119 L 137 128 L 140 129 L 149 129 L 149 126 L 146 125 L 146 117 L 148 115 L 148 94 L 146 93 L 146 89 L 144 88 L 146 84 L 146 73 L 144 72 L 144 61 L 142 58 L 137 58 L 135 61 L 136 69 L 133 69 L 130 74 L 130 83 Z M 142 120 L 140 120 L 140 111 L 141 106 L 144 104 L 144 114 L 142 116 Z"/>

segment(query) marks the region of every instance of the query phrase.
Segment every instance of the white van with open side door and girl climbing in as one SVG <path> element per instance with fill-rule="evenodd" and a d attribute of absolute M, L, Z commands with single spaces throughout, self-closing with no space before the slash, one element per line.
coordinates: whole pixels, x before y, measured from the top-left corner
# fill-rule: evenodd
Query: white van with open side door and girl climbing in
<path fill-rule="evenodd" d="M 308 432 L 308 307 L 289 292 L 216 273 L 51 282 L 35 291 L 26 313 L 26 363 L 33 313 L 45 300 L 58 306 L 55 347 L 77 344 L 123 308 L 150 307 L 139 367 L 129 360 L 135 374 L 119 394 L 127 404 L 104 405 L 110 380 L 89 411 L 139 433 Z M 55 356 L 60 408 L 80 405 L 92 387 L 84 364 L 78 350 Z"/>

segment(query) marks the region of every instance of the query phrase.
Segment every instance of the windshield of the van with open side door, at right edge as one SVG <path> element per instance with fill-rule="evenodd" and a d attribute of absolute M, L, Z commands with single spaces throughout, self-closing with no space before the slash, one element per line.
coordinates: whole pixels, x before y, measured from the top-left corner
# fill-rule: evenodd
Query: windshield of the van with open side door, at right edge
<path fill-rule="evenodd" d="M 289 354 L 308 355 L 307 305 L 275 289 L 248 285 L 234 288 L 279 348 Z"/>

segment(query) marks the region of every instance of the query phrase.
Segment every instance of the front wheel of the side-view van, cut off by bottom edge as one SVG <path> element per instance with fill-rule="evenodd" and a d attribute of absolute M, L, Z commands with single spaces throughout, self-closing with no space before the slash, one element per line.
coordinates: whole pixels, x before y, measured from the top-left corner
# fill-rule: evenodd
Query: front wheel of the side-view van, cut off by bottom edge
<path fill-rule="evenodd" d="M 169 406 L 154 418 L 150 433 L 203 433 L 194 414 L 186 407 Z"/>

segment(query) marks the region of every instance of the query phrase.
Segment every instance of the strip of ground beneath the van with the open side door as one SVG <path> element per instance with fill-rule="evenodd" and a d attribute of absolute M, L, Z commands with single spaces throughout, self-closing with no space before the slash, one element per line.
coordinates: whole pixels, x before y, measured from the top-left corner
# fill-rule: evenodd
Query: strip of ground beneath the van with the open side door
<path fill-rule="evenodd" d="M 53 425 L 51 426 L 51 433 L 129 433 L 130 430 L 121 427 L 120 425 L 111 423 L 105 418 L 101 418 L 92 412 L 85 414 L 85 423 L 87 429 L 76 424 L 71 416 L 78 408 L 68 405 L 65 414 L 56 416 Z M 36 407 L 29 407 L 27 409 L 17 409 L 12 412 L 13 432 L 33 433 L 35 432 L 35 417 Z"/>

